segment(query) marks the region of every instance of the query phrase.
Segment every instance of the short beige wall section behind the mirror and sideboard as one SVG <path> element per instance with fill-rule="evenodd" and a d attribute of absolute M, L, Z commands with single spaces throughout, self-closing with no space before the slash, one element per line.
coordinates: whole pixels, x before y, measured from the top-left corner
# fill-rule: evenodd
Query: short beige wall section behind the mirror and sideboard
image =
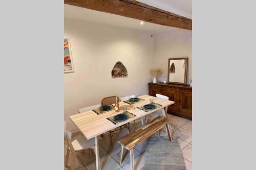
<path fill-rule="evenodd" d="M 187 84 L 192 80 L 192 31 L 173 29 L 154 34 L 155 65 L 163 69 L 160 81 L 168 79 L 168 59 L 188 57 Z"/>

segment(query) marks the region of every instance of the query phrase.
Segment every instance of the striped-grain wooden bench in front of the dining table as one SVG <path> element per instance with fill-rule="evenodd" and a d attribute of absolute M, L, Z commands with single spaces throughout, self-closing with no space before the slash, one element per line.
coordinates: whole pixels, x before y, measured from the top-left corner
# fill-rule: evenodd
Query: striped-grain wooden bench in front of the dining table
<path fill-rule="evenodd" d="M 147 124 L 137 128 L 136 130 L 131 131 L 129 134 L 123 136 L 118 140 L 118 143 L 121 144 L 121 155 L 120 155 L 120 164 L 122 163 L 123 148 L 130 151 L 131 159 L 131 170 L 134 170 L 134 153 L 133 148 L 142 142 L 144 139 L 150 137 L 160 129 L 166 126 L 169 140 L 172 141 L 172 135 L 170 134 L 170 119 L 163 116 L 158 116 L 148 122 Z"/>

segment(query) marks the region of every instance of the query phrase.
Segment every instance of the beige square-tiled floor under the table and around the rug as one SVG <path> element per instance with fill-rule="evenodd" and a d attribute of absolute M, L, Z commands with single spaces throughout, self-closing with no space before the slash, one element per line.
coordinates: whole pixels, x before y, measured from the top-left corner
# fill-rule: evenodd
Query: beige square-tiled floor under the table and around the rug
<path fill-rule="evenodd" d="M 192 169 L 192 121 L 177 117 L 175 115 L 167 114 L 172 122 L 172 136 L 177 138 L 180 143 L 180 148 L 182 150 L 182 154 L 184 157 L 184 162 L 186 165 L 186 169 Z M 132 128 L 136 128 L 141 126 L 140 119 L 136 120 L 135 124 L 132 124 Z M 165 132 L 165 128 L 161 130 L 160 135 L 167 135 Z M 102 170 L 129 170 L 130 169 L 130 153 L 124 151 L 123 153 L 123 162 L 120 165 L 120 144 L 117 143 L 117 140 L 127 134 L 127 130 L 123 129 L 122 131 L 117 131 L 113 136 L 113 148 L 109 148 L 108 140 L 106 135 L 103 138 L 99 139 L 99 154 L 100 154 L 100 163 Z M 72 137 L 72 140 L 79 137 L 79 135 Z M 67 150 L 67 143 L 65 142 L 65 157 Z M 141 142 L 139 145 L 135 147 L 134 150 L 134 161 L 135 161 L 135 169 L 141 169 L 145 165 L 145 150 L 146 150 L 146 141 Z M 70 161 L 69 161 L 70 162 Z M 95 156 L 91 154 L 89 155 L 89 151 L 81 153 L 78 155 L 78 158 L 75 162 L 75 169 L 84 170 L 84 169 L 96 169 L 95 165 Z M 70 169 L 69 167 L 65 167 L 65 170 Z"/>

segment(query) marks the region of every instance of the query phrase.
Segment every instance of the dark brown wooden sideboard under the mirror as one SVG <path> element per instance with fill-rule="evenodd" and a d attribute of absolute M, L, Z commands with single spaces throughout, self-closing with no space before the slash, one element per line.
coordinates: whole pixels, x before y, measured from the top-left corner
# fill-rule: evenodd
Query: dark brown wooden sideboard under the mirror
<path fill-rule="evenodd" d="M 175 104 L 168 106 L 167 113 L 192 119 L 192 87 L 169 83 L 148 83 L 150 95 L 162 94 Z"/>

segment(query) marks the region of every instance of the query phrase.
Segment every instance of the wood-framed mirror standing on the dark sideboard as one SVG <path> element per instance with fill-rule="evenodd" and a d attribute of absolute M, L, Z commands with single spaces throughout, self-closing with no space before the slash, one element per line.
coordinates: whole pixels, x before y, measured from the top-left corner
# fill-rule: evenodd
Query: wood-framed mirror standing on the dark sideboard
<path fill-rule="evenodd" d="M 187 58 L 169 58 L 168 83 L 186 84 Z"/>

